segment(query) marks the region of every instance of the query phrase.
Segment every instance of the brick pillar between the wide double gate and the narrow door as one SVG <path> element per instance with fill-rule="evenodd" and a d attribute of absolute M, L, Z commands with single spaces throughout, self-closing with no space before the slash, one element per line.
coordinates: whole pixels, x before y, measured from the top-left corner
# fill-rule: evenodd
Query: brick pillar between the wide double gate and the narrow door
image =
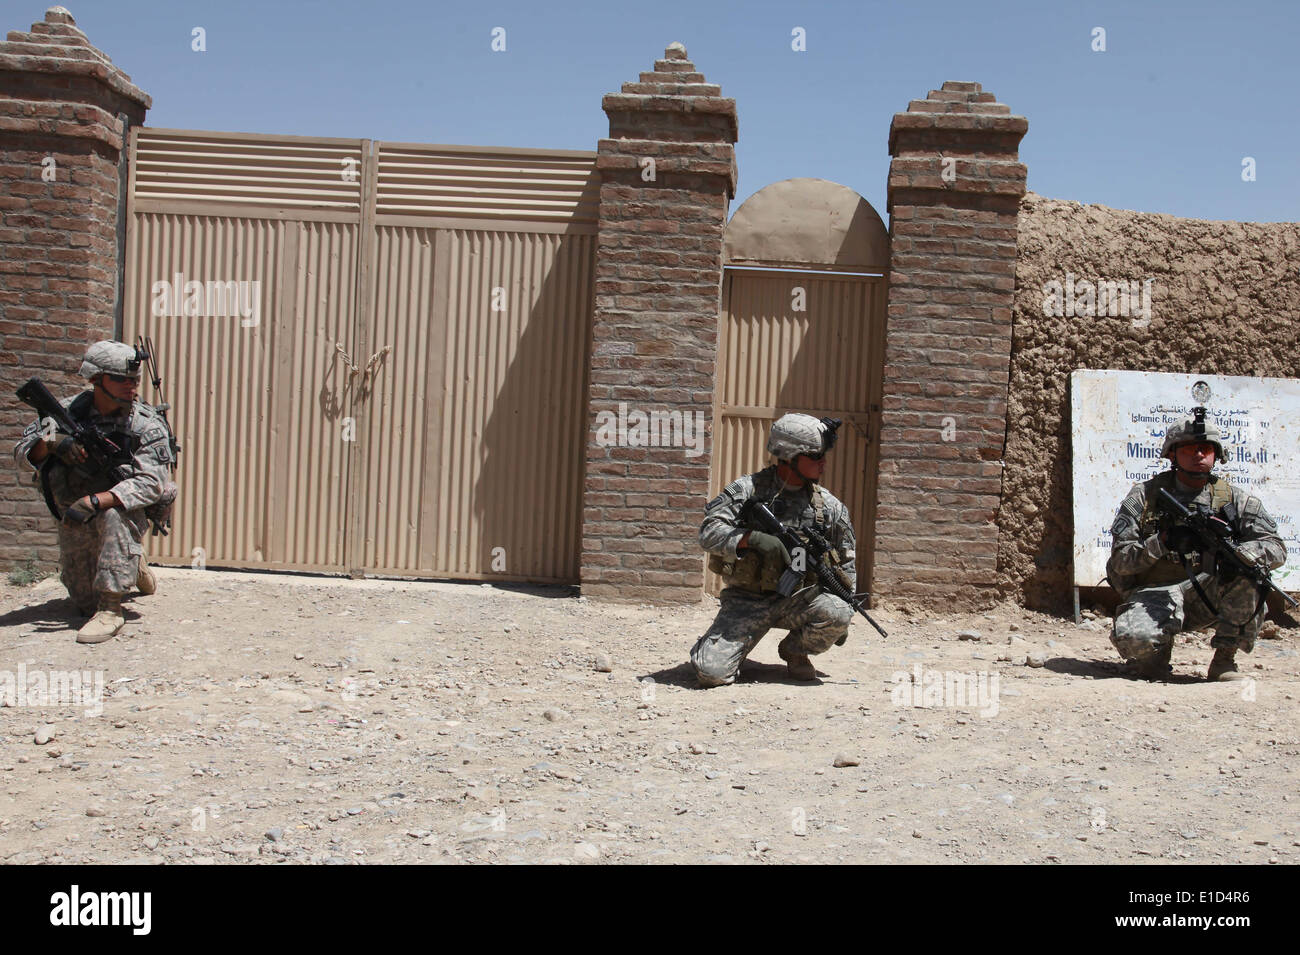
<path fill-rule="evenodd" d="M 708 494 L 714 368 L 727 204 L 736 195 L 736 101 L 705 82 L 680 43 L 654 73 L 604 97 L 601 225 L 582 508 L 582 591 L 621 600 L 698 602 L 697 541 Z M 632 421 L 608 440 L 603 420 Z M 632 414 L 698 421 L 686 444 L 630 446 Z M 656 429 L 663 434 L 664 429 Z"/>

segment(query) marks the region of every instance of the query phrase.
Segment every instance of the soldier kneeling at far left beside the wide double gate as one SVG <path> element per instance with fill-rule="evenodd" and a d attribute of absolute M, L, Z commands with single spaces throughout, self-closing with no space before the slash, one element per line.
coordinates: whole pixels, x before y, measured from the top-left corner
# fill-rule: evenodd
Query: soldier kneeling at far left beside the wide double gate
<path fill-rule="evenodd" d="M 86 451 L 55 421 L 32 422 L 14 447 L 20 464 L 48 470 L 49 489 L 62 515 L 58 555 L 62 582 L 82 616 L 91 617 L 78 643 L 100 643 L 126 622 L 122 598 L 138 589 L 153 594 L 157 581 L 140 539 L 150 520 L 165 524 L 176 499 L 170 431 L 151 405 L 135 400 L 140 363 L 135 348 L 96 342 L 86 350 L 81 374 L 92 390 L 61 401 L 69 414 L 107 434 L 124 448 L 117 461 L 131 473 L 117 481 L 86 470 Z"/>

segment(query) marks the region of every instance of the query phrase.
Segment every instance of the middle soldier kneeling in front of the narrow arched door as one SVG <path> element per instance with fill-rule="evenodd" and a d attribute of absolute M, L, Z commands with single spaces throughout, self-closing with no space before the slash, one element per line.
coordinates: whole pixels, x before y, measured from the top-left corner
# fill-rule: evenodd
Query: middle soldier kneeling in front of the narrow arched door
<path fill-rule="evenodd" d="M 833 443 L 835 429 L 826 420 L 785 414 L 767 442 L 779 463 L 732 482 L 708 502 L 699 546 L 708 551 L 710 569 L 722 574 L 724 587 L 718 617 L 690 651 L 701 686 L 734 682 L 741 663 L 771 628 L 789 630 L 777 652 L 794 680 L 816 680 L 809 656 L 848 637 L 853 608 L 822 592 L 811 572 L 790 596 L 777 594 L 776 582 L 790 565 L 790 554 L 777 538 L 741 524 L 745 502 L 758 498 L 796 534 L 816 528 L 833 547 L 827 557 L 853 591 L 857 569 L 849 509 L 818 483 Z"/>

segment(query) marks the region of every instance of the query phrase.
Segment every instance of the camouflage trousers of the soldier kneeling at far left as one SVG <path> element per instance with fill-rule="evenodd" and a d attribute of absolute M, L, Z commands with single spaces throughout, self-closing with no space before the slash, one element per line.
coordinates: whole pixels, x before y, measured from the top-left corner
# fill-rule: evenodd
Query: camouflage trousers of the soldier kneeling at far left
<path fill-rule="evenodd" d="M 135 586 L 147 528 L 143 511 L 117 507 L 101 511 L 88 524 L 58 525 L 61 577 L 81 609 L 94 612 L 100 594 L 125 594 Z"/>

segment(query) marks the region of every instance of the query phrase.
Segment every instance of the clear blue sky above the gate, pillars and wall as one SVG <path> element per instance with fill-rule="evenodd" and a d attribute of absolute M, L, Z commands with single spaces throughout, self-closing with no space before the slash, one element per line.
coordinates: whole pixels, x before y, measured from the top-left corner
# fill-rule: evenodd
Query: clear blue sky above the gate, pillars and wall
<path fill-rule="evenodd" d="M 4 29 L 44 16 L 0 0 Z M 827 0 L 72 0 L 148 125 L 594 149 L 601 96 L 680 40 L 736 99 L 736 203 L 810 175 L 881 214 L 889 121 L 945 79 L 1028 117 L 1035 192 L 1300 221 L 1300 4 Z M 191 30 L 207 52 L 191 51 Z M 493 27 L 506 51 L 493 52 Z M 1106 51 L 1092 51 L 1093 27 Z M 790 48 L 803 27 L 806 52 Z M 1243 157 L 1256 181 L 1242 181 Z"/>

